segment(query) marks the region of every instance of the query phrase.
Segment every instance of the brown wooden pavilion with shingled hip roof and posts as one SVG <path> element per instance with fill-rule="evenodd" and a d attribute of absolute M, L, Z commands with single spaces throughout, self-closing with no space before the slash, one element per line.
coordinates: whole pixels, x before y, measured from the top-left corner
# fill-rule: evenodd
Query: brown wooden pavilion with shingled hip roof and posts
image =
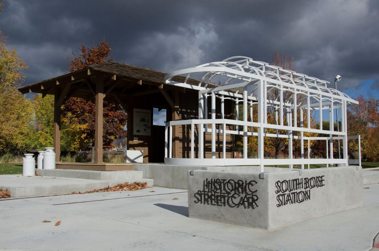
<path fill-rule="evenodd" d="M 127 122 L 127 149 L 143 150 L 143 161 L 149 163 L 163 163 L 165 149 L 164 126 L 153 125 L 153 108 L 166 109 L 166 121 L 182 119 L 196 119 L 198 116 L 198 90 L 196 88 L 183 88 L 164 83 L 166 73 L 126 65 L 116 62 L 105 62 L 101 64 L 89 65 L 85 69 L 67 73 L 61 76 L 52 77 L 44 81 L 30 84 L 19 88 L 22 94 L 42 93 L 54 95 L 54 145 L 56 153 L 57 168 L 68 169 L 88 169 L 88 170 L 130 170 L 131 166 L 110 166 L 103 163 L 103 101 L 119 103 L 128 115 Z M 184 77 L 177 76 L 175 81 L 183 82 Z M 186 80 L 188 84 L 194 86 L 199 81 L 194 79 Z M 208 88 L 212 87 L 208 84 Z M 216 85 L 214 86 L 216 87 Z M 76 166 L 60 166 L 60 127 L 61 127 L 61 105 L 67 99 L 83 98 L 96 101 L 96 129 L 95 129 L 95 152 L 94 163 L 81 164 Z M 225 105 L 227 116 L 234 115 L 234 105 L 232 102 Z M 137 112 L 145 113 L 145 118 L 136 116 Z M 150 116 L 150 119 L 146 116 Z M 136 129 L 139 121 L 143 122 L 147 132 L 140 132 Z M 141 123 L 140 123 L 141 124 Z M 150 127 L 150 128 L 149 128 Z M 186 140 L 189 129 L 186 126 L 176 127 L 172 135 L 172 155 L 177 158 L 189 156 L 191 146 Z M 196 131 L 195 131 L 196 133 Z M 207 136 L 206 136 L 207 137 Z M 227 155 L 233 158 L 234 147 L 233 138 L 227 139 Z M 210 148 L 210 147 L 209 147 Z M 211 149 L 208 149 L 211 151 Z M 205 150 L 207 152 L 207 149 Z"/>

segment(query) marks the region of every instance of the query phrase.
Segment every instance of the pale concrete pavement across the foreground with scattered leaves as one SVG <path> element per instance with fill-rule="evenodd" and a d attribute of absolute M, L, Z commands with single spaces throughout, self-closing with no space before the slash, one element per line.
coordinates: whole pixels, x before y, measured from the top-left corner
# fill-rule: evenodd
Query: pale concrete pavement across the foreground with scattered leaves
<path fill-rule="evenodd" d="M 363 208 L 274 231 L 188 218 L 181 189 L 3 199 L 0 249 L 370 250 L 379 232 L 379 184 L 363 187 Z"/>

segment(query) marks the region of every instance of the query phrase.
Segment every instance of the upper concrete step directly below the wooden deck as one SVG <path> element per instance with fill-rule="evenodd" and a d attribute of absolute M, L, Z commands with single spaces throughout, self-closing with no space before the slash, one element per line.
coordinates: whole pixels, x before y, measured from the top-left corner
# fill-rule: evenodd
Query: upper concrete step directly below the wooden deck
<path fill-rule="evenodd" d="M 73 169 L 36 169 L 39 175 L 86 180 L 120 180 L 143 178 L 143 171 L 92 171 Z"/>

